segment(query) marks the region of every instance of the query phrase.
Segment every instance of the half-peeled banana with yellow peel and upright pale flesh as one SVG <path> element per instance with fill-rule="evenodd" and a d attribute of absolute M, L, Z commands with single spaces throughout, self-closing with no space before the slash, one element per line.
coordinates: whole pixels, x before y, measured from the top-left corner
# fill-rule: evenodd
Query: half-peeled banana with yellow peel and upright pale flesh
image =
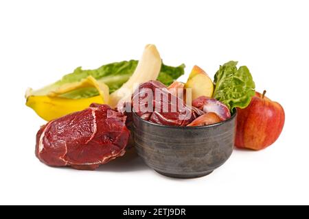
<path fill-rule="evenodd" d="M 81 81 L 68 83 L 60 87 L 49 86 L 49 92 L 46 93 L 30 88 L 25 94 L 26 105 L 47 121 L 84 110 L 91 103 L 104 103 L 111 105 L 111 107 L 116 107 L 118 103 L 130 101 L 134 86 L 138 86 L 139 83 L 156 80 L 160 73 L 161 64 L 162 61 L 157 48 L 154 44 L 148 44 L 133 75 L 121 88 L 113 92 L 111 96 L 109 95 L 109 88 L 105 83 L 89 76 Z M 63 94 L 73 90 L 88 87 L 96 88 L 100 95 L 85 99 L 63 97 Z"/>

